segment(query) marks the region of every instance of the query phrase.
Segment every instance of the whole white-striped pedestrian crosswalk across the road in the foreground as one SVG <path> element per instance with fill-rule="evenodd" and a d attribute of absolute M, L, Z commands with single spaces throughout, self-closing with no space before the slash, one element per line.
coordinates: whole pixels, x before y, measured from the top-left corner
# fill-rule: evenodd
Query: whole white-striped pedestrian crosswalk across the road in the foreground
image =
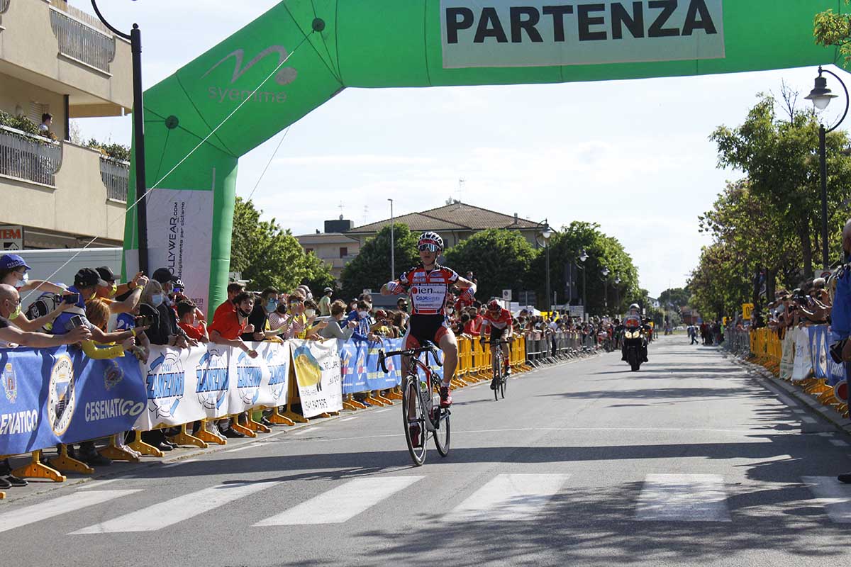
<path fill-rule="evenodd" d="M 77 526 L 83 527 L 67 532 L 69 536 L 174 529 L 177 524 L 193 518 L 213 518 L 215 514 L 211 513 L 220 516 L 228 506 L 244 506 L 252 510 L 253 517 L 258 520 L 254 527 L 263 530 L 274 530 L 280 526 L 345 524 L 357 521 L 364 513 L 372 513 L 374 519 L 380 519 L 392 512 L 391 515 L 398 518 L 400 510 L 412 522 L 427 517 L 429 522 L 447 525 L 534 522 L 545 514 L 549 519 L 562 514 L 565 519 L 575 521 L 576 510 L 571 510 L 572 496 L 583 490 L 588 494 L 588 486 L 574 486 L 572 479 L 570 474 L 564 473 L 498 473 L 483 482 L 454 488 L 422 475 L 311 480 L 300 485 L 298 497 L 294 498 L 296 503 L 283 510 L 277 507 L 276 500 L 288 485 L 280 480 L 225 482 L 153 504 L 151 499 L 156 501 L 156 487 L 111 490 L 116 485 L 110 484 L 101 490 L 106 483 L 93 483 L 91 487 L 83 486 L 71 494 L 23 507 L 11 507 L 6 512 L 0 507 L 0 533 L 74 513 L 79 513 Z M 808 488 L 811 497 L 802 496 L 801 501 L 794 503 L 795 506 L 821 507 L 824 514 L 822 521 L 851 524 L 851 485 L 842 485 L 834 477 L 819 476 L 803 477 L 800 485 Z M 748 490 L 733 486 L 716 474 L 648 474 L 643 483 L 621 486 L 623 490 L 616 493 L 623 502 L 617 502 L 617 507 L 625 512 L 631 511 L 629 518 L 638 522 L 749 521 L 746 511 L 737 512 L 729 505 L 730 496 L 746 494 Z M 270 490 L 273 488 L 276 490 Z M 437 494 L 457 496 L 457 501 L 454 496 L 448 498 L 451 504 L 438 506 L 436 513 L 434 496 Z M 254 495 L 254 498 L 248 498 Z M 288 494 L 288 498 L 292 496 L 292 493 Z M 129 513 L 110 514 L 111 502 L 120 502 L 123 512 L 133 509 L 137 503 L 139 508 Z M 90 512 L 94 507 L 100 509 Z M 390 507 L 393 507 L 392 510 Z M 593 509 L 592 506 L 586 507 L 583 513 Z M 104 521 L 98 524 L 86 522 L 86 519 L 90 522 L 91 518 Z M 77 518 L 73 521 L 77 522 Z"/>

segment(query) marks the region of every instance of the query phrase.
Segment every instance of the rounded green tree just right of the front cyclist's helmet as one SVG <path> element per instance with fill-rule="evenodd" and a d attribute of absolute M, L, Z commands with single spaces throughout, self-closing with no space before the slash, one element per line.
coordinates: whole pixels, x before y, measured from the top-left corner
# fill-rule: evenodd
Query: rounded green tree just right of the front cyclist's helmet
<path fill-rule="evenodd" d="M 460 275 L 471 271 L 478 281 L 476 297 L 487 301 L 501 298 L 504 289 L 526 289 L 535 254 L 517 230 L 491 229 L 477 232 L 448 249 L 446 263 Z"/>

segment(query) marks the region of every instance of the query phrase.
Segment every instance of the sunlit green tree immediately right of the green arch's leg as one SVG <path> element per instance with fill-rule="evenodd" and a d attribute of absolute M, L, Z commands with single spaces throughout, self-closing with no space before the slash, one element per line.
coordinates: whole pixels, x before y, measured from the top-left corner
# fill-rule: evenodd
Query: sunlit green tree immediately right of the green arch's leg
<path fill-rule="evenodd" d="M 255 290 L 267 286 L 289 292 L 305 284 L 311 290 L 334 285 L 327 264 L 306 254 L 299 241 L 276 220 L 260 220 L 262 211 L 237 197 L 231 237 L 231 271 L 240 272 Z"/>

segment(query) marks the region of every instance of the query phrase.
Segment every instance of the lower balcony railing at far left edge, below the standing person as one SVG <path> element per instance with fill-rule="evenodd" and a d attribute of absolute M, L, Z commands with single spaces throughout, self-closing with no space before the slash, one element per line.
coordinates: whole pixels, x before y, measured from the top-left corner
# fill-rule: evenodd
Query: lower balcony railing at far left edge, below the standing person
<path fill-rule="evenodd" d="M 0 126 L 0 175 L 56 186 L 62 146 L 41 136 Z"/>

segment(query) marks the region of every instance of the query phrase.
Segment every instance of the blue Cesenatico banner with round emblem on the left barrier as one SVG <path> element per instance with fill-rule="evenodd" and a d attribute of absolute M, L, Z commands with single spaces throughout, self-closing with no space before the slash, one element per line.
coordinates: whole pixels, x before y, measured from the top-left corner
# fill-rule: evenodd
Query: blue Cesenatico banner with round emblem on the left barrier
<path fill-rule="evenodd" d="M 76 348 L 0 349 L 0 455 L 128 430 L 145 411 L 133 357 L 92 360 Z"/>

